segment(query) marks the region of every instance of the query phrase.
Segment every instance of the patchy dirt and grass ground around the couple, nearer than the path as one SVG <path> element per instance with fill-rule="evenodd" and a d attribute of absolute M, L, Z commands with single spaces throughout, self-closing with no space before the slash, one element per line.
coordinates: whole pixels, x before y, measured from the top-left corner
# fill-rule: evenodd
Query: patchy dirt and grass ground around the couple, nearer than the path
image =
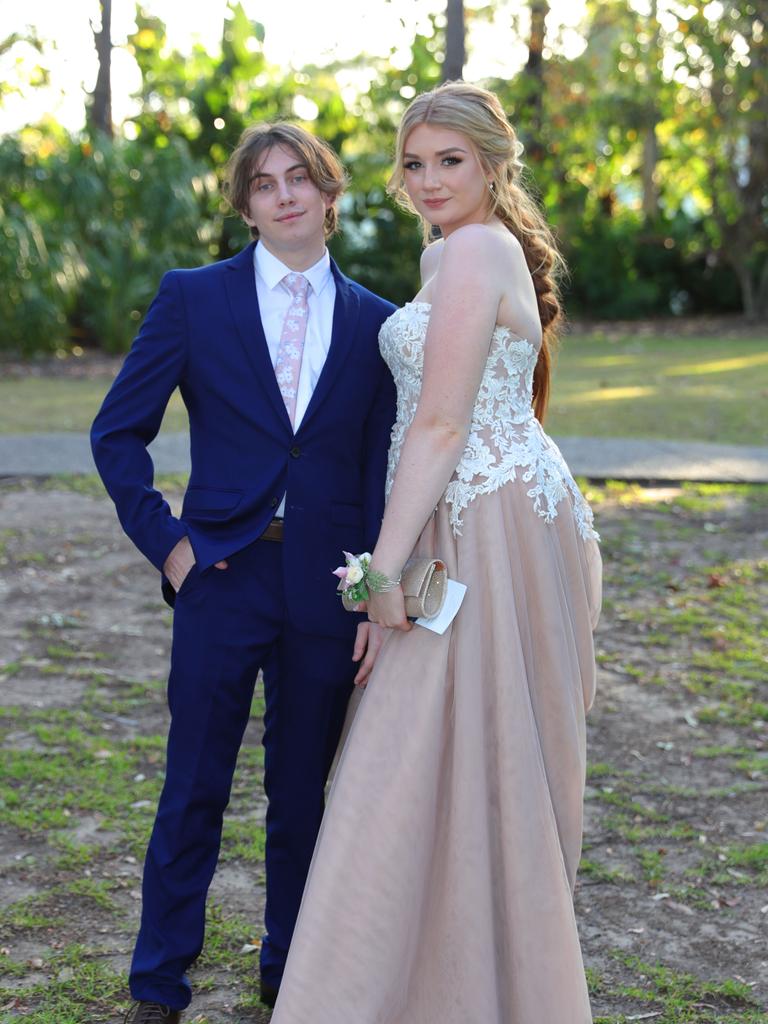
<path fill-rule="evenodd" d="M 171 612 L 110 502 L 76 485 L 0 483 L 2 1022 L 121 1019 L 162 783 Z M 768 492 L 590 492 L 605 606 L 577 912 L 595 1018 L 766 1022 Z M 261 712 L 193 972 L 200 1024 L 268 1020 Z"/>

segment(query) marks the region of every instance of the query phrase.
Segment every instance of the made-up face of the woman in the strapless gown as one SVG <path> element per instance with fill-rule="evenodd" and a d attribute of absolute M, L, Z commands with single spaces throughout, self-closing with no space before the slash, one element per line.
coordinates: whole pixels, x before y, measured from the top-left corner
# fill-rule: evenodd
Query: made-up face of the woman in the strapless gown
<path fill-rule="evenodd" d="M 443 236 L 487 220 L 490 175 L 461 132 L 430 124 L 414 128 L 406 139 L 402 174 L 411 202 Z"/>

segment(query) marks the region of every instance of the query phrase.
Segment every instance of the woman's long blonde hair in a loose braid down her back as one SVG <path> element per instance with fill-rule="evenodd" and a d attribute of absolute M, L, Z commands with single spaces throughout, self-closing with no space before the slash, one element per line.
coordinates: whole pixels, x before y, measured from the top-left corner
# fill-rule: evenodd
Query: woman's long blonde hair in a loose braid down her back
<path fill-rule="evenodd" d="M 395 165 L 387 190 L 403 209 L 420 217 L 425 244 L 431 238 L 430 224 L 414 208 L 403 179 L 406 142 L 413 129 L 422 124 L 451 128 L 467 137 L 483 171 L 492 175 L 488 217 L 498 217 L 522 246 L 542 322 L 542 347 L 534 371 L 532 401 L 536 416 L 544 421 L 552 353 L 562 321 L 558 279 L 565 269 L 565 261 L 539 206 L 520 180 L 522 145 L 499 99 L 486 89 L 465 82 L 445 82 L 413 100 L 397 129 Z"/>

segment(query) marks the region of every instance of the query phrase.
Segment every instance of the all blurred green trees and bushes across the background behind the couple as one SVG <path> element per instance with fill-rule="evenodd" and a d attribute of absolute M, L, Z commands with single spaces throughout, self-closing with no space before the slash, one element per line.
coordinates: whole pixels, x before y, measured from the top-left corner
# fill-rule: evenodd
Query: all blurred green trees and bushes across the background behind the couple
<path fill-rule="evenodd" d="M 720 15 L 707 0 L 660 17 L 636 6 L 590 0 L 585 47 L 567 57 L 550 15 L 539 70 L 484 83 L 517 126 L 530 187 L 557 227 L 566 307 L 601 318 L 758 316 L 768 308 L 764 19 L 757 4 L 731 0 Z M 505 16 L 509 42 L 524 39 L 524 18 Z M 217 49 L 188 53 L 139 7 L 129 141 L 69 138 L 50 122 L 0 142 L 0 273 L 10 283 L 0 349 L 124 350 L 164 270 L 248 241 L 218 177 L 243 129 L 264 120 L 304 119 L 341 154 L 351 186 L 332 253 L 372 290 L 411 298 L 419 229 L 385 182 L 406 105 L 440 80 L 443 25 L 432 17 L 408 62 L 361 54 L 297 70 L 268 63 L 264 26 L 241 3 L 225 8 Z M 19 39 L 0 42 L 0 55 Z M 24 86 L 44 80 L 35 63 Z"/>

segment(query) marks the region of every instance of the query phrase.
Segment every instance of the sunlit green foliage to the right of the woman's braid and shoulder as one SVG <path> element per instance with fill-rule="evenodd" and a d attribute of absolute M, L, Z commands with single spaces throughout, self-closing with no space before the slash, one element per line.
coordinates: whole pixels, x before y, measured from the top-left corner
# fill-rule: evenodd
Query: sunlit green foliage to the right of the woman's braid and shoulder
<path fill-rule="evenodd" d="M 746 216 L 746 200 L 732 194 L 743 179 L 765 196 L 761 151 L 750 150 L 749 134 L 761 123 L 757 95 L 765 62 L 761 70 L 760 61 L 743 60 L 739 46 L 752 40 L 757 54 L 764 38 L 755 5 L 737 14 L 737 5 L 725 4 L 723 18 L 705 14 L 712 6 L 696 0 L 681 8 L 679 19 L 662 24 L 628 0 L 589 3 L 584 51 L 545 62 L 536 134 L 530 76 L 523 71 L 489 83 L 519 130 L 536 188 L 557 225 L 571 270 L 565 290 L 571 313 L 636 317 L 746 308 L 736 271 L 744 264 L 758 276 L 766 265 L 768 218 L 765 200 L 760 213 L 753 199 Z M 755 39 L 748 31 L 753 23 Z M 697 78 L 694 54 L 701 55 Z M 732 111 L 727 124 L 715 111 L 718 88 Z M 727 206 L 730 233 L 712 216 L 718 204 Z"/>

